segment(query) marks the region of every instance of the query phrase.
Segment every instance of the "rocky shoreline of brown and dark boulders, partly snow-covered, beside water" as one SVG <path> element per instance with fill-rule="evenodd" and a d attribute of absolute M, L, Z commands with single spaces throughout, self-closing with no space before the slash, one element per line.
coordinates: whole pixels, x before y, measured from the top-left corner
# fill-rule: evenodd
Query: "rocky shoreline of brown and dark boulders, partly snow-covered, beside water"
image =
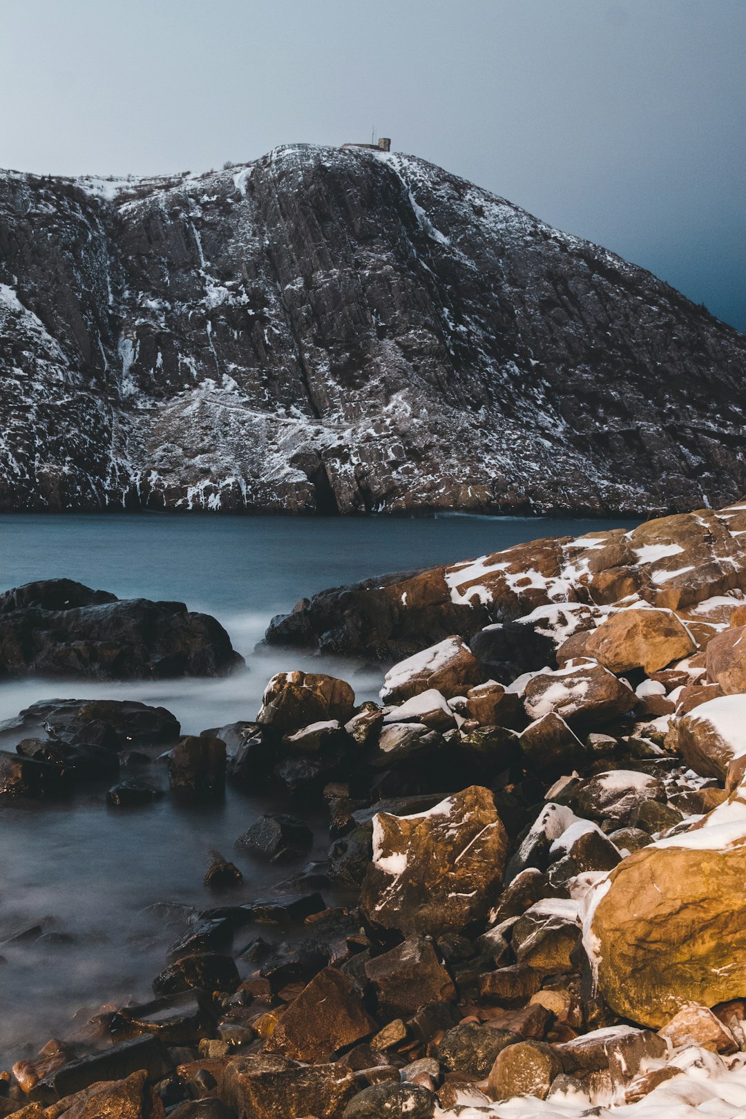
<path fill-rule="evenodd" d="M 218 904 L 159 908 L 153 999 L 104 1003 L 1 1072 L 0 1115 L 742 1116 L 743 539 L 746 502 L 324 592 L 273 622 L 271 641 L 384 661 L 380 703 L 286 671 L 255 718 L 200 736 L 115 700 L 4 724 L 2 796 L 111 773 L 125 808 L 161 765 L 186 803 L 229 781 L 286 808 L 236 837 L 276 888 L 251 896 L 214 853 Z M 9 595 L 0 645 L 2 602 L 37 609 Z M 328 859 L 283 881 L 324 803 Z"/>

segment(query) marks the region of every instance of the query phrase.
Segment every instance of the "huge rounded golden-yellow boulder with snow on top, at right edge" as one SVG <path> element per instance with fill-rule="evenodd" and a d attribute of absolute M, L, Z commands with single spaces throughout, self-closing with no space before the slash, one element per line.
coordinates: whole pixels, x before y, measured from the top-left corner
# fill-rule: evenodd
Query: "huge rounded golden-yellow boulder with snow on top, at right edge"
<path fill-rule="evenodd" d="M 612 1009 L 658 1028 L 690 1003 L 742 996 L 745 880 L 744 818 L 671 836 L 620 863 L 591 895 L 583 934 Z"/>

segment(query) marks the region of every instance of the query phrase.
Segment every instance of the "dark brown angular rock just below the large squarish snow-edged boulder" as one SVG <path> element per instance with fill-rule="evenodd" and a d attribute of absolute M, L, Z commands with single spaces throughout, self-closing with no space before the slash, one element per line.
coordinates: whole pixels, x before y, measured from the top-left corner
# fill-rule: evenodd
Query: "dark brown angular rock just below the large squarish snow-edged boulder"
<path fill-rule="evenodd" d="M 408 1018 L 431 1003 L 453 1002 L 456 988 L 432 943 L 409 937 L 365 965 L 386 1017 Z"/>

